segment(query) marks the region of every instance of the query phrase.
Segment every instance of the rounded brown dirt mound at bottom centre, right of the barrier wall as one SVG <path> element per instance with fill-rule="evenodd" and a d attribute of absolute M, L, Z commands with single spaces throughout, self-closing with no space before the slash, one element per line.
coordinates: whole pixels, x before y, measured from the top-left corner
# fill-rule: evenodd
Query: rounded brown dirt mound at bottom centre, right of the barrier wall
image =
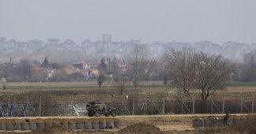
<path fill-rule="evenodd" d="M 160 128 L 145 123 L 137 123 L 134 125 L 130 125 L 126 128 L 120 129 L 118 132 L 123 134 L 163 134 L 163 132 L 160 131 Z"/>

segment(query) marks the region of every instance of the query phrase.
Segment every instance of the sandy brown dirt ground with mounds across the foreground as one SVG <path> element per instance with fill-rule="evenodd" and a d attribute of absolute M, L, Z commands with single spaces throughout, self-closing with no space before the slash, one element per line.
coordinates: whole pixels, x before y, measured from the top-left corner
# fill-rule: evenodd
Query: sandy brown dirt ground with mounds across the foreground
<path fill-rule="evenodd" d="M 175 133 L 175 134 L 190 134 L 196 132 L 192 127 L 192 120 L 195 118 L 206 117 L 224 117 L 224 114 L 186 114 L 186 115 L 154 115 L 154 116 L 119 116 L 116 120 L 122 122 L 121 129 L 104 129 L 104 130 L 70 130 L 68 128 L 43 128 L 30 132 L 29 134 L 130 134 L 130 133 Z M 232 114 L 231 118 L 246 118 L 247 114 Z M 107 120 L 107 117 L 102 117 Z M 106 119 L 105 119 L 106 118 Z M 16 120 L 15 117 L 8 118 Z M 91 117 L 31 117 L 30 121 L 81 121 L 92 120 Z M 19 120 L 19 119 L 18 119 Z M 0 120 L 1 121 L 1 120 Z M 3 121 L 3 120 L 2 120 Z M 1 132 L 0 132 L 1 133 Z M 10 133 L 10 132 L 5 132 Z M 17 133 L 17 132 L 16 132 Z"/>

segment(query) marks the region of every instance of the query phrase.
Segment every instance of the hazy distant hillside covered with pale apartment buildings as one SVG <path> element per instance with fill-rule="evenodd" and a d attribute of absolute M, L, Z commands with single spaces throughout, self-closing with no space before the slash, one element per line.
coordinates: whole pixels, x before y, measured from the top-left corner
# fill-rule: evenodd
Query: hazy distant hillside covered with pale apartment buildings
<path fill-rule="evenodd" d="M 235 43 L 228 41 L 222 44 L 212 43 L 209 41 L 202 41 L 197 43 L 183 43 L 183 42 L 167 42 L 156 41 L 153 43 L 142 43 L 141 39 L 130 39 L 130 41 L 114 41 L 111 35 L 103 35 L 101 40 L 96 40 L 94 42 L 85 39 L 81 43 L 76 43 L 72 39 L 66 39 L 61 41 L 60 39 L 47 39 L 47 40 L 28 40 L 28 42 L 20 42 L 14 39 L 6 39 L 4 37 L 0 38 L 0 51 L 6 55 L 16 52 L 22 52 L 25 55 L 32 54 L 37 60 L 37 54 L 42 54 L 42 56 L 47 55 L 47 53 L 57 52 L 61 53 L 65 51 L 75 52 L 88 57 L 118 57 L 123 58 L 126 56 L 127 50 L 133 45 L 143 45 L 147 49 L 149 58 L 160 58 L 164 56 L 167 50 L 171 49 L 181 49 L 183 47 L 190 47 L 194 50 L 203 51 L 209 54 L 220 54 L 225 58 L 235 58 L 240 60 L 243 58 L 243 54 L 255 51 L 255 43 Z M 35 54 L 36 52 L 36 54 Z M 49 55 L 49 54 L 48 54 Z M 60 54 L 62 55 L 62 54 Z M 72 55 L 72 53 L 70 54 Z M 22 56 L 21 56 L 22 57 Z M 28 56 L 30 57 L 30 56 Z M 53 57 L 53 56 L 51 56 Z M 15 58 L 15 56 L 13 56 Z M 26 58 L 24 56 L 24 58 Z M 72 59 L 71 59 L 72 60 Z M 73 59 L 77 61 L 78 59 Z M 6 62 L 5 58 L 2 58 L 0 62 Z"/>

